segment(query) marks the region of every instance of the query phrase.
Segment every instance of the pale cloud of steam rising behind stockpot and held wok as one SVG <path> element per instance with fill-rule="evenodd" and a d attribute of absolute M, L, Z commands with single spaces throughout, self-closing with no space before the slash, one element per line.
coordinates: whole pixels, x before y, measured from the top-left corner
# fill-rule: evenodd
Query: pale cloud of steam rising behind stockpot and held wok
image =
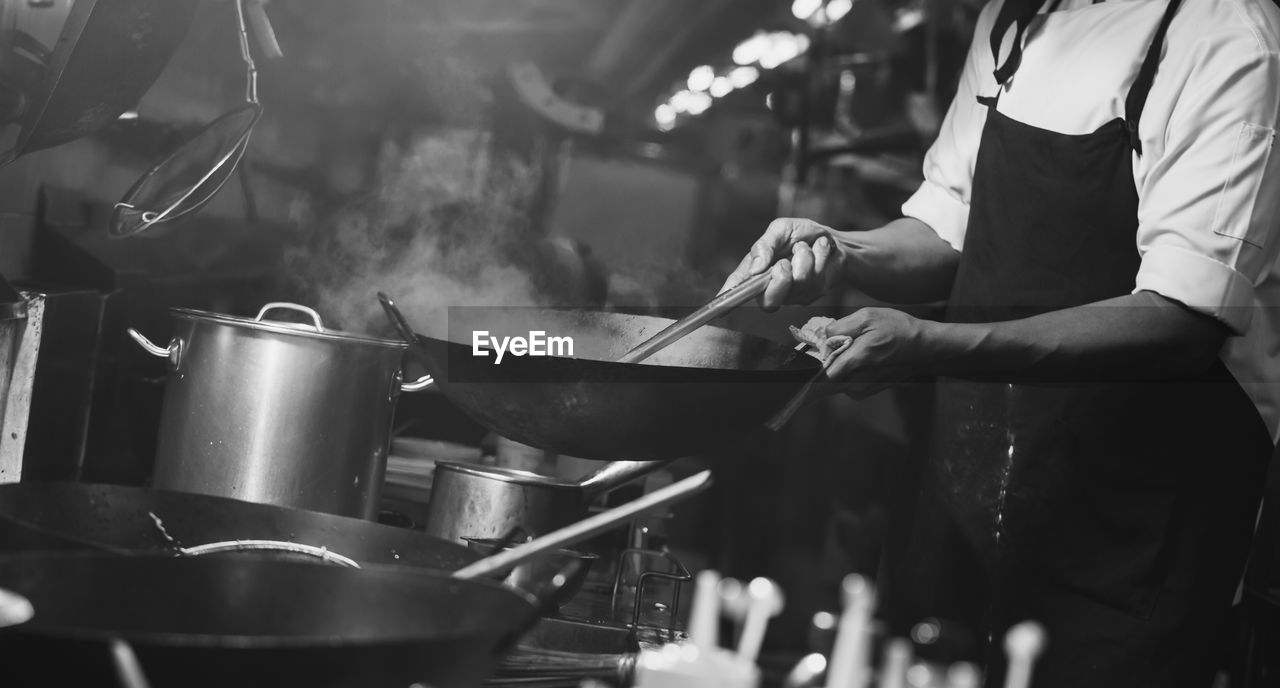
<path fill-rule="evenodd" d="M 296 298 L 326 326 L 397 338 L 378 304 L 385 292 L 415 330 L 448 338 L 451 307 L 669 311 L 704 303 L 728 274 L 620 252 L 605 267 L 585 239 L 543 237 L 530 219 L 539 170 L 492 151 L 474 130 L 384 145 L 374 191 L 287 253 Z M 608 221 L 609 208 L 593 215 Z"/>

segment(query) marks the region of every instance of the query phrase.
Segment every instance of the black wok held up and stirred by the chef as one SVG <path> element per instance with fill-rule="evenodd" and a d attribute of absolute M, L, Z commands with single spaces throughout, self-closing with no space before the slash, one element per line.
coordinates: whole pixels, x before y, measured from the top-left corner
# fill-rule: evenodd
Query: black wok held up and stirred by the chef
<path fill-rule="evenodd" d="M 419 334 L 440 390 L 489 430 L 589 459 L 653 460 L 722 446 L 778 412 L 818 362 L 788 347 L 700 327 L 643 363 L 622 354 L 673 321 L 596 311 L 451 308 L 448 339 Z M 573 354 L 474 354 L 490 336 L 570 336 Z"/>

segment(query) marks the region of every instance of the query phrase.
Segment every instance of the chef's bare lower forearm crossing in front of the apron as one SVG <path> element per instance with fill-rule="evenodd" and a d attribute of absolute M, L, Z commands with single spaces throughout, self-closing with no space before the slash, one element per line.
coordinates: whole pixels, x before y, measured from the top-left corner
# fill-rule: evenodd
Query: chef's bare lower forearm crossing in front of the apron
<path fill-rule="evenodd" d="M 1006 322 L 922 325 L 933 372 L 1005 381 L 1196 373 L 1230 334 L 1219 320 L 1155 292 Z"/>

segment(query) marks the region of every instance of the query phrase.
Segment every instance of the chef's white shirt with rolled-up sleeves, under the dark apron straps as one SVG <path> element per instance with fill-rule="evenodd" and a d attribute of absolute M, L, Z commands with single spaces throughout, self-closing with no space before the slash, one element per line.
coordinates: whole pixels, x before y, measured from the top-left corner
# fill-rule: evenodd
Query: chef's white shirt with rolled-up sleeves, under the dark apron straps
<path fill-rule="evenodd" d="M 982 12 L 955 101 L 924 159 L 924 183 L 902 206 L 963 251 L 974 161 L 995 96 L 991 28 Z M 1065 134 L 1124 116 L 1129 86 L 1166 0 L 1065 0 L 1028 28 L 1002 114 Z M 1012 46 L 1009 31 L 1001 59 Z M 1271 0 L 1184 0 L 1169 27 L 1142 113 L 1134 292 L 1210 313 L 1240 336 L 1228 368 L 1280 437 L 1280 9 Z"/>

